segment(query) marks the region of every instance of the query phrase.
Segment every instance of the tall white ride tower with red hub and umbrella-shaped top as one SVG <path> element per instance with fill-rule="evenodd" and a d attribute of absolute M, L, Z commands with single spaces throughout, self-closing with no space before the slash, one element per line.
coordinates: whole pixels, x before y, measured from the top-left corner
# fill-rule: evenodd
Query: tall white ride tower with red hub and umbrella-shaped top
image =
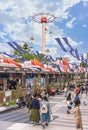
<path fill-rule="evenodd" d="M 38 13 L 32 16 L 32 20 L 42 24 L 42 53 L 46 54 L 46 23 L 55 21 L 55 16 L 49 13 Z"/>

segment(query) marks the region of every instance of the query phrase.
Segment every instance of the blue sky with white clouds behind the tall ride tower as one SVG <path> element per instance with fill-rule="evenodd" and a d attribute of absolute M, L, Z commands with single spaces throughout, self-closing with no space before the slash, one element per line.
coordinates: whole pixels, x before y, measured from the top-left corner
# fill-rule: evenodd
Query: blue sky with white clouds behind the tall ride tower
<path fill-rule="evenodd" d="M 46 23 L 46 49 L 52 57 L 68 56 L 55 38 L 67 37 L 79 54 L 88 53 L 88 0 L 0 0 L 0 52 L 13 53 L 7 42 L 28 42 L 33 50 L 42 50 L 42 24 L 32 17 L 44 13 L 55 16 Z M 39 16 L 39 15 L 38 15 Z M 34 38 L 31 41 L 31 37 Z M 65 43 L 63 43 L 65 46 Z M 67 46 L 66 46 L 67 47 Z"/>

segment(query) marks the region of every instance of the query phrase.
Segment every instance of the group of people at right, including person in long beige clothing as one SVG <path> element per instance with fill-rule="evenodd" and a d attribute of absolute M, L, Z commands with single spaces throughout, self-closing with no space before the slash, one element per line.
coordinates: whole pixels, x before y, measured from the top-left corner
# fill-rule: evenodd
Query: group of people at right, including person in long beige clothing
<path fill-rule="evenodd" d="M 72 93 L 69 92 L 67 87 L 64 89 L 64 96 L 67 101 L 67 114 L 70 114 L 70 111 L 73 108 L 76 129 L 83 130 L 80 104 L 83 103 L 83 105 L 87 105 L 86 97 L 88 96 L 88 83 L 85 85 L 77 85 L 73 92 L 74 97 L 72 97 Z"/>

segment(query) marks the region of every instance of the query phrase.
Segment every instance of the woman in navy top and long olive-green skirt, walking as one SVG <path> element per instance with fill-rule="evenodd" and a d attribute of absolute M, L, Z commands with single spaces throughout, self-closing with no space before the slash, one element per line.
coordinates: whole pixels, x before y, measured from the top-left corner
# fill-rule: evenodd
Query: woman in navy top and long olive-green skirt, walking
<path fill-rule="evenodd" d="M 34 98 L 31 102 L 31 112 L 30 112 L 30 121 L 33 122 L 34 125 L 38 125 L 40 121 L 40 103 L 37 97 L 37 94 L 34 94 Z"/>

